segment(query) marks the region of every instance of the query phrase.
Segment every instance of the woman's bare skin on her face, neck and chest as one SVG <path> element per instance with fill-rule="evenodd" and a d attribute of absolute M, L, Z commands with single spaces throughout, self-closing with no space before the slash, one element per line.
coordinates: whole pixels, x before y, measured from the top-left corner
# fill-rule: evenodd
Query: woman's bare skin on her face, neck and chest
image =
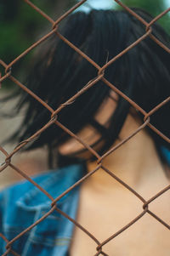
<path fill-rule="evenodd" d="M 96 119 L 100 123 L 105 123 L 115 107 L 116 102 L 106 100 Z M 119 134 L 119 139 L 127 138 L 139 128 L 140 124 L 138 114 L 129 114 Z M 98 139 L 99 136 L 88 126 L 78 135 L 88 144 L 91 142 L 90 138 Z M 117 139 L 116 143 L 118 142 Z M 59 148 L 63 154 L 80 149 L 82 145 L 73 139 Z M 141 130 L 127 143 L 105 157 L 102 163 L 105 168 L 130 185 L 145 200 L 149 200 L 169 185 L 169 179 L 156 152 L 154 141 L 146 129 Z M 94 170 L 96 166 L 96 162 L 88 162 L 88 172 Z M 170 216 L 169 196 L 170 192 L 167 191 L 149 206 L 149 209 L 167 224 L 169 224 Z M 81 186 L 77 222 L 91 232 L 99 242 L 103 242 L 142 213 L 142 207 L 143 203 L 137 196 L 112 179 L 103 169 L 99 169 Z M 149 256 L 151 254 L 167 256 L 170 250 L 169 240 L 169 230 L 146 213 L 129 229 L 105 244 L 103 250 L 110 256 Z M 76 226 L 70 247 L 71 256 L 94 255 L 97 252 L 96 247 L 97 244 Z"/>

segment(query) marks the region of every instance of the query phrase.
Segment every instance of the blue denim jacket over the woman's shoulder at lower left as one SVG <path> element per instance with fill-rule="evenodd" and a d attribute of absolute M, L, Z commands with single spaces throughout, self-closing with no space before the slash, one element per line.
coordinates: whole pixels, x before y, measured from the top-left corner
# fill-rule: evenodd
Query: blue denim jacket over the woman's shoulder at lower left
<path fill-rule="evenodd" d="M 34 178 L 38 185 L 56 198 L 81 179 L 82 165 L 49 171 Z M 80 186 L 63 196 L 57 207 L 72 219 L 77 217 Z M 0 232 L 10 241 L 20 232 L 42 218 L 51 208 L 51 201 L 42 191 L 28 181 L 20 182 L 0 193 Z M 12 249 L 22 256 L 68 255 L 74 225 L 54 211 L 38 225 L 27 231 L 12 244 Z M 0 237 L 0 255 L 6 252 L 6 242 Z M 8 253 L 8 255 L 13 255 Z"/>

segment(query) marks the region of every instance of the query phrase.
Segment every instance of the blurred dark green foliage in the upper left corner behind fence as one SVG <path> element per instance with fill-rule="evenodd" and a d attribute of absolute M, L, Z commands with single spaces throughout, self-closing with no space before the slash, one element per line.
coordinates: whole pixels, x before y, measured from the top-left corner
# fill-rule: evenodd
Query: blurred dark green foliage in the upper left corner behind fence
<path fill-rule="evenodd" d="M 54 20 L 75 3 L 74 0 L 32 0 L 31 2 Z M 48 20 L 38 14 L 25 1 L 0 1 L 0 59 L 7 64 L 50 30 L 51 24 Z M 14 74 L 15 72 L 22 74 L 23 70 L 26 70 L 26 62 L 30 56 L 31 54 L 26 55 L 13 66 Z M 0 72 L 4 75 L 2 66 L 0 66 Z"/>

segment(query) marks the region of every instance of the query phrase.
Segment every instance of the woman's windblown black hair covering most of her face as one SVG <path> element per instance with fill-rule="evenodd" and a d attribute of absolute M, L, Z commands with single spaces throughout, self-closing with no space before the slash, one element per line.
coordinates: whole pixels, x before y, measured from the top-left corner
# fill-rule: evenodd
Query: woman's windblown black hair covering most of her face
<path fill-rule="evenodd" d="M 147 22 L 152 20 L 150 14 L 145 11 L 133 10 Z M 122 52 L 144 33 L 145 26 L 132 14 L 115 10 L 92 10 L 89 14 L 83 12 L 71 14 L 61 30 L 61 34 L 100 66 L 105 65 L 106 61 Z M 152 34 L 167 47 L 170 46 L 169 36 L 161 26 L 152 25 Z M 148 112 L 170 95 L 169 60 L 169 54 L 150 37 L 146 37 L 106 68 L 105 78 Z M 28 76 L 26 87 L 55 110 L 97 75 L 98 70 L 93 65 L 54 34 L 37 55 L 36 64 Z M 110 92 L 111 88 L 99 81 L 74 103 L 60 111 L 58 117 L 59 122 L 75 134 L 89 123 L 94 125 L 99 130 L 101 139 L 104 140 L 99 148 L 99 154 L 103 154 L 113 145 L 131 106 L 127 100 L 119 97 L 109 127 L 101 127 L 94 121 L 94 115 Z M 24 120 L 13 135 L 13 139 L 18 139 L 19 142 L 29 138 L 50 119 L 49 111 L 22 91 L 17 111 L 25 106 Z M 167 137 L 170 135 L 170 122 L 167 121 L 169 106 L 168 102 L 150 117 L 150 123 Z M 170 149 L 170 145 L 151 129 L 149 132 L 162 157 L 160 147 L 163 145 Z M 26 150 L 48 145 L 52 152 L 69 138 L 70 135 L 61 128 L 52 125 L 37 140 L 29 144 Z M 59 159 L 62 159 L 59 162 L 61 164 L 69 163 L 65 161 L 66 157 Z M 76 162 L 77 159 L 72 157 L 71 161 Z"/>

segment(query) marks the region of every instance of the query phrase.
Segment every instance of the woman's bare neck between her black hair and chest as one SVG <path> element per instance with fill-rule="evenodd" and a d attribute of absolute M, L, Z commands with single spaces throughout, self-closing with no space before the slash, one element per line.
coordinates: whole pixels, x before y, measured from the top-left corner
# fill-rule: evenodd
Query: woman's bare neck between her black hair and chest
<path fill-rule="evenodd" d="M 133 188 L 139 185 L 144 178 L 154 177 L 158 173 L 158 175 L 164 175 L 154 142 L 144 130 L 106 156 L 102 165 Z M 94 168 L 96 168 L 96 163 L 88 162 L 88 171 Z M 104 190 L 111 190 L 119 185 L 103 169 L 93 174 L 90 182 Z"/>

